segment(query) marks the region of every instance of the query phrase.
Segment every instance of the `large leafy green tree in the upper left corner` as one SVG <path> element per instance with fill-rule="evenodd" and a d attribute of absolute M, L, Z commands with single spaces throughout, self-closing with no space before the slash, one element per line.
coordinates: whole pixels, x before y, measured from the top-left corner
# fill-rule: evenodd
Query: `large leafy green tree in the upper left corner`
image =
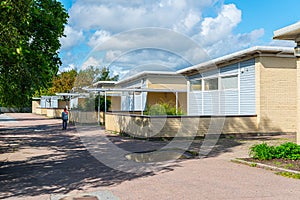
<path fill-rule="evenodd" d="M 0 103 L 26 107 L 61 65 L 59 38 L 68 14 L 56 0 L 0 3 Z"/>

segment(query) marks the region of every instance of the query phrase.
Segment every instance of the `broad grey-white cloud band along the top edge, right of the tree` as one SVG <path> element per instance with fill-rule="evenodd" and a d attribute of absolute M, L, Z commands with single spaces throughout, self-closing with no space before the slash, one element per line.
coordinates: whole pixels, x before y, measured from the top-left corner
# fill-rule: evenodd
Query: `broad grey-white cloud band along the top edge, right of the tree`
<path fill-rule="evenodd" d="M 141 27 L 190 26 L 215 0 L 94 1 L 78 0 L 70 9 L 70 24 L 78 29 L 118 33 Z M 190 15 L 192 13 L 192 15 Z"/>

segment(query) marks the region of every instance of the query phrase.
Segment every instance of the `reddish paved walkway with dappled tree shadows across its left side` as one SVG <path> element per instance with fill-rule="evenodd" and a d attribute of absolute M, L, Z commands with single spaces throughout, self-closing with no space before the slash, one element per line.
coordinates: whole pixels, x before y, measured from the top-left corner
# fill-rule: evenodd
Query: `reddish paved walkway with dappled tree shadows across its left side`
<path fill-rule="evenodd" d="M 99 162 L 102 159 L 105 163 L 102 157 L 113 151 L 106 148 L 104 137 L 95 139 L 95 133 L 97 130 L 73 126 L 63 131 L 60 120 L 32 114 L 0 115 L 0 199 L 67 200 L 83 195 L 98 199 L 300 197 L 299 180 L 230 162 L 247 156 L 249 146 L 261 142 L 258 138 L 221 139 L 208 158 L 168 162 L 154 172 L 126 173 L 120 171 L 121 164 L 116 170 Z M 128 152 L 148 152 L 168 144 L 105 138 Z M 264 137 L 270 143 L 292 140 L 290 136 Z M 99 149 L 93 148 L 95 144 L 101 144 L 100 151 L 93 151 Z M 201 141 L 196 141 L 191 149 L 200 145 Z"/>

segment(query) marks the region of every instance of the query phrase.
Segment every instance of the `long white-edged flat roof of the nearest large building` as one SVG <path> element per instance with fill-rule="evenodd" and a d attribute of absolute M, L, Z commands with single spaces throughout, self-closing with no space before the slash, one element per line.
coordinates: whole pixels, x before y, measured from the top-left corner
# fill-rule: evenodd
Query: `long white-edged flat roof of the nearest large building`
<path fill-rule="evenodd" d="M 191 67 L 178 70 L 177 73 L 190 75 L 198 73 L 198 70 L 205 70 L 217 67 L 224 63 L 238 61 L 245 58 L 253 57 L 257 54 L 275 54 L 275 55 L 294 55 L 293 48 L 290 47 L 275 47 L 275 46 L 255 46 L 242 51 L 238 51 L 229 55 L 225 55 L 204 63 L 200 63 Z"/>

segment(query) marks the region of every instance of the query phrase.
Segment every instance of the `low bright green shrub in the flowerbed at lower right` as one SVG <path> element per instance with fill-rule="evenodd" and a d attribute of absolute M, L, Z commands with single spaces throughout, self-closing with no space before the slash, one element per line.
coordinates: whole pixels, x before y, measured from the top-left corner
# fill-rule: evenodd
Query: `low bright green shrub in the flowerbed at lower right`
<path fill-rule="evenodd" d="M 289 160 L 300 159 L 300 145 L 286 142 L 279 146 L 269 146 L 266 143 L 253 145 L 250 148 L 250 156 L 259 160 L 284 158 Z"/>

